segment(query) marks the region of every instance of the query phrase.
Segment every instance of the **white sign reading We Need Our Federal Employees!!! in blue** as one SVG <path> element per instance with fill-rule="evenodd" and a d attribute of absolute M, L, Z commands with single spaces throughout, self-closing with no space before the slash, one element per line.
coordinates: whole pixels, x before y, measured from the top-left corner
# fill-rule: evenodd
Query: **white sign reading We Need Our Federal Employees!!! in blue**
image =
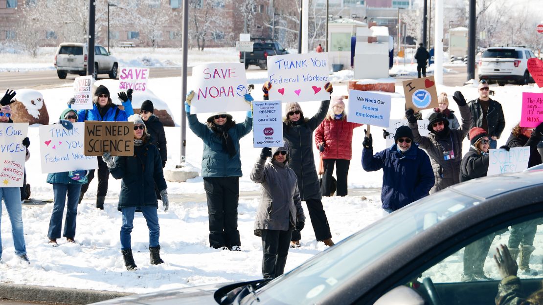
<path fill-rule="evenodd" d="M 388 127 L 392 101 L 386 94 L 350 90 L 347 120 L 353 123 Z"/>

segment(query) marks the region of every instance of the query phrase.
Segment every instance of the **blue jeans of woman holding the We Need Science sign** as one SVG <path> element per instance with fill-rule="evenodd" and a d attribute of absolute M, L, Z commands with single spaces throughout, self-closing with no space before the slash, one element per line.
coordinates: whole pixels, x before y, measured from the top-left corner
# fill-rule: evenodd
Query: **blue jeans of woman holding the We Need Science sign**
<path fill-rule="evenodd" d="M 143 217 L 147 221 L 147 227 L 149 228 L 149 247 L 159 246 L 160 226 L 159 215 L 157 214 L 157 208 L 155 206 L 142 206 L 137 207 L 143 212 Z M 121 226 L 121 250 L 131 248 L 130 233 L 134 228 L 134 213 L 136 207 L 123 207 L 123 225 Z"/>

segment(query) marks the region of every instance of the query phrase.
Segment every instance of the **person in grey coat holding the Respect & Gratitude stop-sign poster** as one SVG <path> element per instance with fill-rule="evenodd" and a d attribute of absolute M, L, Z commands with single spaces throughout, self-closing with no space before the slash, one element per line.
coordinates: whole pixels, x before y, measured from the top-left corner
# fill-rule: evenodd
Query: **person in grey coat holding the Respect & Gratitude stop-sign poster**
<path fill-rule="evenodd" d="M 254 230 L 256 236 L 262 237 L 264 278 L 283 274 L 292 230 L 301 230 L 305 224 L 298 178 L 287 166 L 287 148 L 286 143 L 273 151 L 264 147 L 250 174 L 251 180 L 261 185 Z"/>

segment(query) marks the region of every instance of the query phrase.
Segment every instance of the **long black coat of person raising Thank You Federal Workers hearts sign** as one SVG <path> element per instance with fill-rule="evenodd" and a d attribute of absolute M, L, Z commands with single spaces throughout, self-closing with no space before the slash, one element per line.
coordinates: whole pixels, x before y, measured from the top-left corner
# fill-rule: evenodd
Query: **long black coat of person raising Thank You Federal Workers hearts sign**
<path fill-rule="evenodd" d="M 288 167 L 294 170 L 298 177 L 298 188 L 300 189 L 300 198 L 322 199 L 320 193 L 319 176 L 315 169 L 315 159 L 313 157 L 313 130 L 317 128 L 320 122 L 323 122 L 326 116 L 330 100 L 323 100 L 320 103 L 319 110 L 315 115 L 303 122 L 287 124 L 283 122 L 283 139 L 288 144 L 288 155 L 291 161 Z M 296 124 L 298 123 L 298 124 Z"/>

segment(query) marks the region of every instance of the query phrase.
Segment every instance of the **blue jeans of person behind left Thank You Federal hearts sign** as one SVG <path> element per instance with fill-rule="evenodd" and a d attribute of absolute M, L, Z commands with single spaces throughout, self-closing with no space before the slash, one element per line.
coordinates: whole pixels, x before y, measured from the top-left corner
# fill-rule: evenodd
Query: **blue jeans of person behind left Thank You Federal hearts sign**
<path fill-rule="evenodd" d="M 77 206 L 79 202 L 79 192 L 81 191 L 80 184 L 53 183 L 53 194 L 55 202 L 53 205 L 53 213 L 49 221 L 49 238 L 60 238 L 62 230 L 62 214 L 66 204 L 66 194 L 68 195 L 68 205 L 66 208 L 66 221 L 64 223 L 64 237 L 75 237 L 75 221 L 77 219 Z"/>

